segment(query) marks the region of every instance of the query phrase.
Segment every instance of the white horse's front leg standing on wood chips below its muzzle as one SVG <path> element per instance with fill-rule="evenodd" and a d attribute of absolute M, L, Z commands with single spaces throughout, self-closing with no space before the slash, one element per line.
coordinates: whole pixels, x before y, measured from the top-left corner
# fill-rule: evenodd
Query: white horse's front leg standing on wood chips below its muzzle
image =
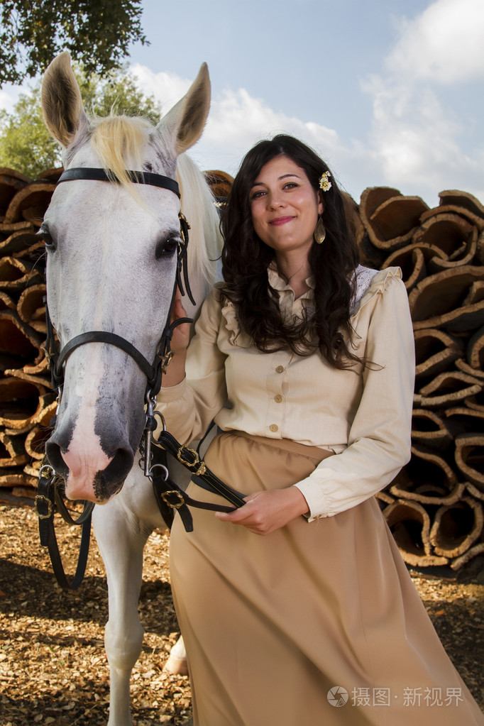
<path fill-rule="evenodd" d="M 120 507 L 122 494 L 118 497 L 103 507 L 94 507 L 93 524 L 106 568 L 109 597 L 109 620 L 104 632 L 110 665 L 108 726 L 132 726 L 129 682 L 143 642 L 138 600 L 143 549 L 152 527 L 126 513 Z"/>

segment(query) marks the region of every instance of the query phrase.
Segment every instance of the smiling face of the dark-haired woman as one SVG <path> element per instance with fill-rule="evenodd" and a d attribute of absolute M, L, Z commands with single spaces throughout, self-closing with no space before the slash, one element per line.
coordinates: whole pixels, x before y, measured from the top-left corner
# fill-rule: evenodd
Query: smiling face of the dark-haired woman
<path fill-rule="evenodd" d="M 250 210 L 255 232 L 276 256 L 307 256 L 323 204 L 303 168 L 287 156 L 268 161 L 250 189 Z"/>

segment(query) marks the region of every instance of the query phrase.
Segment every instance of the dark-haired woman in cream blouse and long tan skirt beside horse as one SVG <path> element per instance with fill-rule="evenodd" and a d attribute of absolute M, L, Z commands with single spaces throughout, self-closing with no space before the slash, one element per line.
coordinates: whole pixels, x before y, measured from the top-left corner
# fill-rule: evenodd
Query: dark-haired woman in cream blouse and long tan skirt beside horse
<path fill-rule="evenodd" d="M 358 266 L 335 180 L 290 136 L 247 154 L 222 226 L 224 282 L 160 394 L 182 441 L 215 419 L 205 462 L 246 502 L 173 525 L 194 723 L 484 724 L 374 499 L 410 456 L 400 270 Z"/>

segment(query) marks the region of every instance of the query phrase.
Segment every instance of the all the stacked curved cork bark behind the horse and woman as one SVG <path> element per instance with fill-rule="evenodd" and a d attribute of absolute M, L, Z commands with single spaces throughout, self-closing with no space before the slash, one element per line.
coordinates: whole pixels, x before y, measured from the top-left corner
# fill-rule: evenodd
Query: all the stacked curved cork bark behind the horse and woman
<path fill-rule="evenodd" d="M 44 249 L 36 232 L 60 171 L 32 181 L 0 169 L 0 500 L 36 491 L 55 412 L 43 347 Z M 217 203 L 231 177 L 205 172 Z M 455 570 L 484 554 L 484 206 L 372 187 L 348 217 L 362 263 L 400 266 L 417 352 L 412 457 L 378 495 L 403 558 Z"/>

